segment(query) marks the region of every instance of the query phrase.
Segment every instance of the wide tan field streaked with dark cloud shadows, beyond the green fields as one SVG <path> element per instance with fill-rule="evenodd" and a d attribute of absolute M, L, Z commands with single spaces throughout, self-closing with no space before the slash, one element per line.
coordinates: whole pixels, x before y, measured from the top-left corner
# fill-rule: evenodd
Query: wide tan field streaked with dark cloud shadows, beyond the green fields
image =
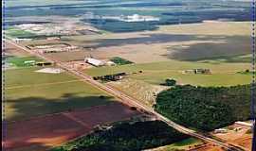
<path fill-rule="evenodd" d="M 192 61 L 192 63 L 248 63 L 251 58 L 250 26 L 249 22 L 204 22 L 189 25 L 160 25 L 155 31 L 63 36 L 62 42 L 79 46 L 81 51 L 47 54 L 47 56 L 62 61 L 93 56 L 97 59 L 119 57 L 135 63 L 173 60 Z M 47 43 L 40 40 L 24 42 L 24 44 L 44 42 Z"/>

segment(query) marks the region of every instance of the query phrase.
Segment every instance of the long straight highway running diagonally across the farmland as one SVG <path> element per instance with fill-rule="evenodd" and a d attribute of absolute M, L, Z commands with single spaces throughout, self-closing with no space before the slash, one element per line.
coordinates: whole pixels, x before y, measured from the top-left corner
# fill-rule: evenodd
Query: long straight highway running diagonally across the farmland
<path fill-rule="evenodd" d="M 8 42 L 9 44 L 12 44 L 20 49 L 27 51 L 28 53 L 30 53 L 33 56 L 37 56 L 37 57 L 39 57 L 41 59 L 45 59 L 46 61 L 49 61 L 49 62 L 55 62 L 57 66 L 61 67 L 65 71 L 73 74 L 74 76 L 80 77 L 82 79 L 82 81 L 89 83 L 89 84 L 93 85 L 94 87 L 101 89 L 102 91 L 107 92 L 107 93 L 119 98 L 119 101 L 121 101 L 122 103 L 124 103 L 128 106 L 137 107 L 137 109 L 145 110 L 146 112 L 155 115 L 157 120 L 161 120 L 161 121 L 165 122 L 167 125 L 174 127 L 174 129 L 180 131 L 181 133 L 190 135 L 194 138 L 198 138 L 198 139 L 203 140 L 208 143 L 214 143 L 214 144 L 219 145 L 219 146 L 221 146 L 227 150 L 230 150 L 230 151 L 243 151 L 243 150 L 248 151 L 248 149 L 243 148 L 241 146 L 234 146 L 229 143 L 223 143 L 218 140 L 212 139 L 208 136 L 205 136 L 203 134 L 200 134 L 200 133 L 198 133 L 192 129 L 189 129 L 187 127 L 180 126 L 180 125 L 174 123 L 173 121 L 169 120 L 168 118 L 164 117 L 163 115 L 157 113 L 154 109 L 140 103 L 139 101 L 137 101 L 137 99 L 135 99 L 131 96 L 128 96 L 123 92 L 119 92 L 118 90 L 115 90 L 114 88 L 112 88 L 110 86 L 104 85 L 104 84 L 94 80 L 91 76 L 87 76 L 86 74 L 82 73 L 81 71 L 78 71 L 75 68 L 65 65 L 63 62 L 46 58 L 44 55 L 37 53 L 37 51 L 31 51 L 31 50 L 27 49 L 26 47 L 17 44 L 16 42 L 11 42 L 9 40 L 6 40 L 6 42 Z"/>

